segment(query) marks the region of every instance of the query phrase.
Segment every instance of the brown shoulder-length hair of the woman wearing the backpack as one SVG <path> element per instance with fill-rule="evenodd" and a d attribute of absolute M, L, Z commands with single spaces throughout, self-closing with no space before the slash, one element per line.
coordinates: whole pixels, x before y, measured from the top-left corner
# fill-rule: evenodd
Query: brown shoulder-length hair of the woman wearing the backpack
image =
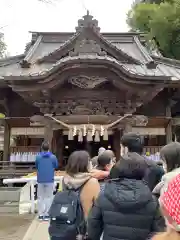
<path fill-rule="evenodd" d="M 88 172 L 90 156 L 86 151 L 75 151 L 68 158 L 66 172 L 69 175 Z"/>

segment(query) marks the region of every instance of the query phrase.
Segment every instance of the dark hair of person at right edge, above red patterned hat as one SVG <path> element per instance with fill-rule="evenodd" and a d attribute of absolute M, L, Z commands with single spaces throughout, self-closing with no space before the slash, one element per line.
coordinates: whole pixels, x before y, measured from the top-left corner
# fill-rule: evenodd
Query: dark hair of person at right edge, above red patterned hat
<path fill-rule="evenodd" d="M 167 165 L 167 171 L 170 172 L 180 167 L 180 143 L 172 142 L 161 148 L 160 156 Z"/>

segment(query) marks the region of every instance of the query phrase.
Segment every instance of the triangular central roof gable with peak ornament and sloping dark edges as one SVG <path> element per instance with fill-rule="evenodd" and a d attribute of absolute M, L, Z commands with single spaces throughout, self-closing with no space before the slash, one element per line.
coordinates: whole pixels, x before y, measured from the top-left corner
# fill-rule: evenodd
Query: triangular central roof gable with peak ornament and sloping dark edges
<path fill-rule="evenodd" d="M 90 36 L 91 35 L 91 36 Z M 37 39 L 38 41 L 38 39 Z M 75 46 L 73 46 L 73 44 Z M 86 54 L 98 54 L 100 56 L 106 55 L 105 52 L 110 52 L 110 55 L 113 55 L 117 60 L 123 59 L 123 61 L 135 64 L 140 64 L 141 61 L 136 59 L 129 54 L 125 53 L 123 50 L 117 48 L 110 41 L 107 41 L 102 34 L 100 34 L 100 28 L 98 27 L 98 21 L 94 20 L 89 12 L 83 17 L 83 19 L 78 21 L 78 27 L 76 28 L 76 33 L 63 45 L 61 45 L 55 51 L 49 53 L 48 55 L 37 59 L 38 63 L 44 63 L 53 59 L 62 58 L 65 54 L 65 51 L 68 53 L 69 49 L 75 47 L 74 53 L 71 52 L 70 56 L 78 55 L 77 52 L 86 53 Z M 90 49 L 92 48 L 92 49 Z M 101 48 L 104 50 L 102 51 Z M 63 53 L 63 54 L 62 54 Z M 59 60 L 58 59 L 58 60 Z"/>

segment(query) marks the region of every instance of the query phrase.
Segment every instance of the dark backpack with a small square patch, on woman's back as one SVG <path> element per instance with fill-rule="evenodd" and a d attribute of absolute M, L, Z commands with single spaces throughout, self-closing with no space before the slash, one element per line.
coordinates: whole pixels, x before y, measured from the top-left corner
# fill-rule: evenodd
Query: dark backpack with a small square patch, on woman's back
<path fill-rule="evenodd" d="M 57 192 L 49 210 L 51 239 L 75 240 L 85 238 L 86 221 L 80 201 L 80 193 L 86 182 L 79 189 L 67 189 Z"/>

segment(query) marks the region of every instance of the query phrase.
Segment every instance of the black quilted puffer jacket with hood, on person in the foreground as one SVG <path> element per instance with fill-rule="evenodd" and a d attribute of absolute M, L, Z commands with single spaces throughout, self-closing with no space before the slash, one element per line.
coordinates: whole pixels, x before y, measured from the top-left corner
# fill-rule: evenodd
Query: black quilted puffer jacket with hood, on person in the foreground
<path fill-rule="evenodd" d="M 159 206 L 142 180 L 106 183 L 88 218 L 88 237 L 99 240 L 145 240 L 163 230 Z"/>

